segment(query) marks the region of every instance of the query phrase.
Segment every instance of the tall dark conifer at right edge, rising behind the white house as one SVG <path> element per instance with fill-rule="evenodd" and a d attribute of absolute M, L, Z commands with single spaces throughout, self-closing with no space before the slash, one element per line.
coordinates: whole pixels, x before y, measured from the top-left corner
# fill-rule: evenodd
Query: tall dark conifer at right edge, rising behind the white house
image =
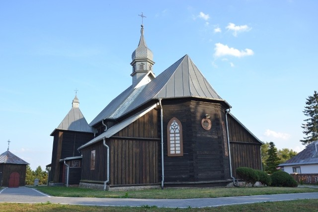
<path fill-rule="evenodd" d="M 304 145 L 307 145 L 313 141 L 318 140 L 318 93 L 314 92 L 313 96 L 307 98 L 305 110 L 303 111 L 305 116 L 309 117 L 304 121 L 306 124 L 302 124 L 304 129 L 303 133 L 306 135 L 304 140 L 300 140 Z"/>

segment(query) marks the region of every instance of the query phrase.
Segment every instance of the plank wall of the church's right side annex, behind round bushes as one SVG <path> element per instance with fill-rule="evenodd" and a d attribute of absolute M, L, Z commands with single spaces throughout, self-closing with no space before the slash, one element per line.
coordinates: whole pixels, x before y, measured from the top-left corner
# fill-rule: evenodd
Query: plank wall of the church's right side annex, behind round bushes
<path fill-rule="evenodd" d="M 228 123 L 234 177 L 237 177 L 235 170 L 238 167 L 261 169 L 261 143 L 231 116 L 228 116 Z"/>

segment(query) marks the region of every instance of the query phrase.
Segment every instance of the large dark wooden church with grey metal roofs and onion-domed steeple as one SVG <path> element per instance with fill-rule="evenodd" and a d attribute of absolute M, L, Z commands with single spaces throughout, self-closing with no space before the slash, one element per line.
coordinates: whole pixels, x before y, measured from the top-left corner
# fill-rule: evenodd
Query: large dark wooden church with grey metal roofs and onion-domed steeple
<path fill-rule="evenodd" d="M 262 142 L 230 113 L 188 55 L 157 77 L 154 64 L 142 25 L 132 84 L 89 126 L 80 113 L 51 134 L 51 181 L 66 183 L 73 159 L 80 161 L 79 185 L 104 190 L 220 186 L 234 182 L 237 167 L 261 169 Z M 85 127 L 75 127 L 79 120 Z"/>

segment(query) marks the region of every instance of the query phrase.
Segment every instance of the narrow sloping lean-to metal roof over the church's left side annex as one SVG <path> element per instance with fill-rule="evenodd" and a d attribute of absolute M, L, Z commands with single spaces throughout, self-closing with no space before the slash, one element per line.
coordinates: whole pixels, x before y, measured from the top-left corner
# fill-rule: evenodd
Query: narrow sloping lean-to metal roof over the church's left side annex
<path fill-rule="evenodd" d="M 131 123 L 133 123 L 134 121 L 139 119 L 140 117 L 144 116 L 146 113 L 148 113 L 149 111 L 151 111 L 155 107 L 157 107 L 157 104 L 154 104 L 151 107 L 146 108 L 145 110 L 143 110 L 143 111 L 141 111 L 139 113 L 136 113 L 135 115 L 129 117 L 128 119 L 125 119 L 124 121 L 114 125 L 113 127 L 109 128 L 107 131 L 105 131 L 104 133 L 100 134 L 96 138 L 94 138 L 94 139 L 88 141 L 87 143 L 79 146 L 78 149 L 82 149 L 85 146 L 88 146 L 88 145 L 91 145 L 92 143 L 100 141 L 103 138 L 110 138 L 111 136 L 113 136 L 116 133 L 118 133 L 120 130 L 124 129 L 125 127 L 127 127 L 128 125 L 130 125 Z"/>

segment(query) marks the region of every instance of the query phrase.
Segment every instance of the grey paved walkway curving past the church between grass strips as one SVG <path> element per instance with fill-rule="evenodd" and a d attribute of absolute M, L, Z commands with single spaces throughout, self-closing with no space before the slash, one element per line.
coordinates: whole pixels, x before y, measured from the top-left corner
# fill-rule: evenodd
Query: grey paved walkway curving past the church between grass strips
<path fill-rule="evenodd" d="M 244 197 L 202 198 L 186 200 L 166 199 L 112 199 L 112 198 L 75 198 L 75 197 L 51 197 L 36 189 L 19 187 L 4 188 L 0 190 L 0 202 L 10 203 L 58 203 L 70 205 L 88 206 L 157 206 L 168 208 L 202 208 L 226 206 L 235 204 L 259 203 L 267 201 L 284 201 L 297 199 L 318 199 L 318 192 L 299 194 L 259 195 Z"/>

